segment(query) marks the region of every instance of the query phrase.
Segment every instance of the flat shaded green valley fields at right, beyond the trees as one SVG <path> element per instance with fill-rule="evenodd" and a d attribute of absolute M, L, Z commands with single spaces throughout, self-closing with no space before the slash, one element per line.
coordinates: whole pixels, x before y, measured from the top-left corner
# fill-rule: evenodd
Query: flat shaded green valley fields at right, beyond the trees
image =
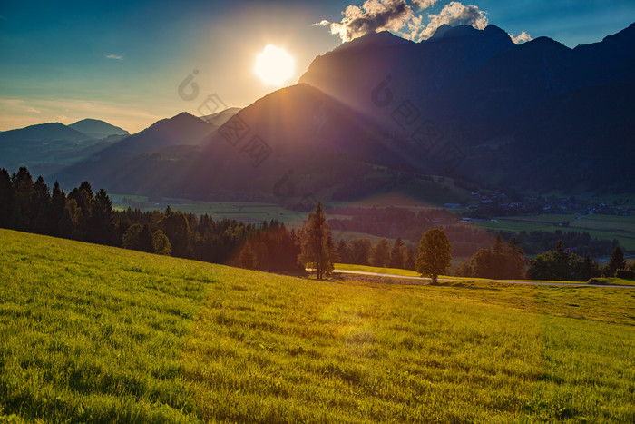
<path fill-rule="evenodd" d="M 507 232 L 589 232 L 591 237 L 603 240 L 617 239 L 620 246 L 635 251 L 635 216 L 618 215 L 533 215 L 498 217 L 496 221 L 478 222 L 475 225 L 494 231 Z M 569 226 L 558 223 L 568 221 Z"/>

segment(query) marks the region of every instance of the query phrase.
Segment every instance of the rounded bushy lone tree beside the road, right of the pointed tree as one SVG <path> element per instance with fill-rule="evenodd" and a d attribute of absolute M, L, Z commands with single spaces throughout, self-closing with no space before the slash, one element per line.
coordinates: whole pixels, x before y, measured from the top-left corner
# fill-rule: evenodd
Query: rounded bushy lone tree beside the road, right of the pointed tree
<path fill-rule="evenodd" d="M 432 283 L 436 284 L 436 278 L 450 268 L 451 261 L 452 245 L 447 240 L 445 231 L 433 228 L 425 232 L 419 242 L 416 271 L 432 278 Z"/>

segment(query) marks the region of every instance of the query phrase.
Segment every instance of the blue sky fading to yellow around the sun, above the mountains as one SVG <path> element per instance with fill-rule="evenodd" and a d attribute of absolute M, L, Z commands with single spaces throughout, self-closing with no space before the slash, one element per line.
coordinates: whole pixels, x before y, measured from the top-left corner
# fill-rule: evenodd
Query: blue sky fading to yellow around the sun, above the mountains
<path fill-rule="evenodd" d="M 433 4 L 418 14 L 422 25 L 450 4 L 420 1 Z M 246 106 L 272 91 L 253 73 L 265 45 L 295 57 L 288 83 L 294 84 L 316 55 L 341 44 L 328 25 L 313 24 L 338 23 L 347 5 L 363 2 L 55 3 L 0 5 L 0 131 L 92 117 L 137 132 L 182 111 L 197 114 L 208 94 Z M 570 47 L 601 41 L 635 21 L 632 0 L 462 3 L 512 35 L 545 35 Z M 177 87 L 194 69 L 200 95 L 186 101 Z"/>

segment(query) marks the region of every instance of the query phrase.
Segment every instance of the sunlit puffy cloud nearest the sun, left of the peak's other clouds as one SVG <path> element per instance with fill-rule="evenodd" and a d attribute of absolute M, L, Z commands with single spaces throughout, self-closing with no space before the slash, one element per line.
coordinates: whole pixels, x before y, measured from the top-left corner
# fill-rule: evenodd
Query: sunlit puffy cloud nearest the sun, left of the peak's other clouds
<path fill-rule="evenodd" d="M 398 31 L 414 17 L 405 0 L 366 0 L 361 7 L 347 6 L 342 15 L 341 22 L 332 23 L 330 30 L 345 42 L 376 31 Z"/>

